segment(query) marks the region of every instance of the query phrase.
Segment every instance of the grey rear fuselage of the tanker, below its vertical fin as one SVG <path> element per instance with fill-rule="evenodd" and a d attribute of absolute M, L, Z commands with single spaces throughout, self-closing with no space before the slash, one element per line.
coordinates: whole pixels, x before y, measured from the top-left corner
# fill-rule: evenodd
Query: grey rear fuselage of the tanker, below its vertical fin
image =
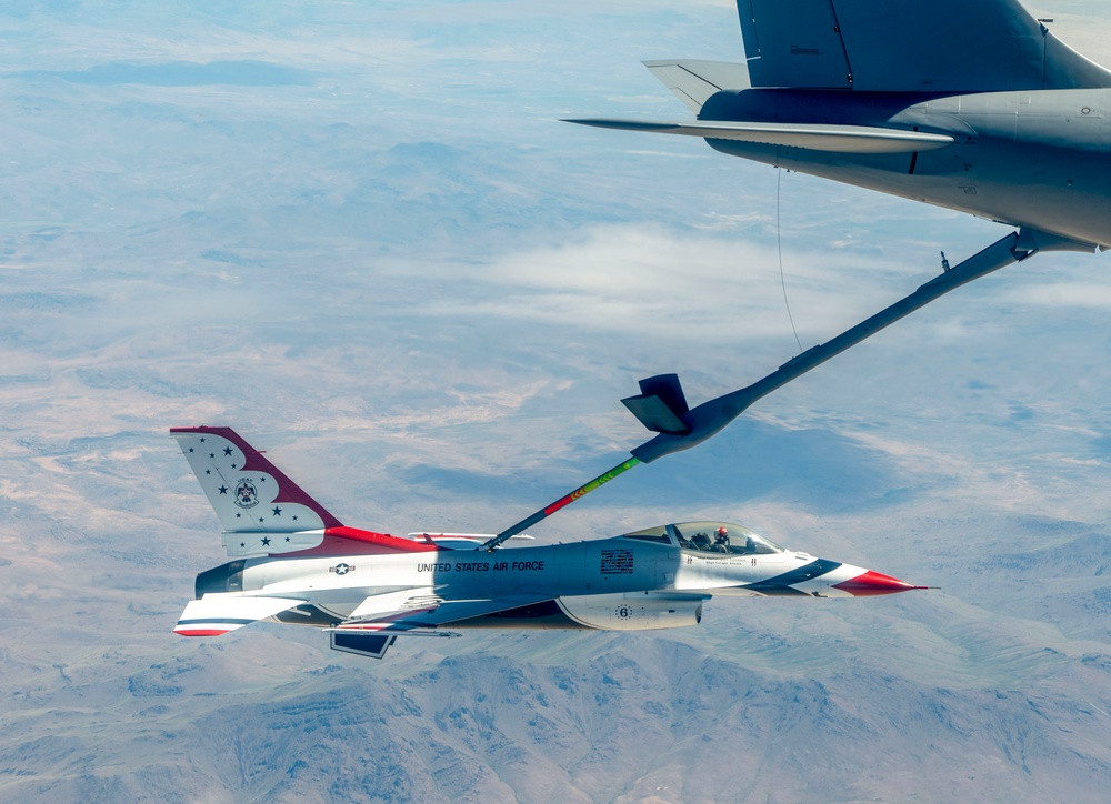
<path fill-rule="evenodd" d="M 718 151 L 801 173 L 1111 244 L 1111 89 L 922 96 L 745 89 L 711 96 L 700 121 L 824 123 L 953 137 L 912 153 L 842 153 L 709 139 Z"/>

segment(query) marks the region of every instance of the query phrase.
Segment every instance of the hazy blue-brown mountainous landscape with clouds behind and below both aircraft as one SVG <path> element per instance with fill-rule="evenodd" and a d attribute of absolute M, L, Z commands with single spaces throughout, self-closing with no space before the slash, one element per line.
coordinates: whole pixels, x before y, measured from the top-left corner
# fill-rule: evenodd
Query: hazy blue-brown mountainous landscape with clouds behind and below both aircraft
<path fill-rule="evenodd" d="M 1035 11 L 1111 62 L 1101 3 Z M 821 733 L 829 707 L 849 728 L 875 691 L 903 712 L 959 711 L 903 728 L 889 756 L 853 757 L 877 785 L 902 765 L 928 798 L 980 784 L 1034 798 L 1068 775 L 1077 800 L 1095 800 L 1111 767 L 1104 255 L 1039 255 L 961 289 L 534 531 L 739 521 L 938 591 L 812 609 L 715 600 L 690 632 L 481 634 L 373 666 L 278 626 L 199 646 L 170 631 L 194 574 L 224 556 L 170 426 L 234 426 L 347 524 L 497 532 L 645 440 L 619 402 L 639 379 L 678 372 L 693 402 L 753 382 L 799 351 L 795 329 L 803 348 L 828 340 L 938 273 L 942 250 L 955 263 L 1007 230 L 698 140 L 559 122 L 688 119 L 640 62 L 741 60 L 724 1 L 40 2 L 0 12 L 0 36 L 6 797 L 303 795 L 280 786 L 296 760 L 206 764 L 202 724 L 228 718 L 246 745 L 233 715 L 251 713 L 312 740 L 304 702 L 352 691 L 437 712 L 396 713 L 412 736 L 386 747 L 406 757 L 397 790 L 410 795 L 541 800 L 552 787 L 530 787 L 531 766 L 584 801 L 720 797 L 728 787 L 697 785 L 722 772 L 665 757 L 710 736 L 771 743 L 653 697 L 674 654 L 775 691 L 760 711 L 797 710 L 799 731 Z M 620 667 L 660 683 L 604 681 Z M 287 708 L 264 708 L 272 692 L 251 669 Z M 612 757 L 595 756 L 577 767 L 601 770 L 575 775 L 526 732 L 527 761 L 499 755 L 490 728 L 516 734 L 497 724 L 527 724 L 537 693 L 496 706 L 473 738 L 428 726 L 483 768 L 452 787 L 420 748 L 424 721 L 454 722 L 433 680 L 496 697 L 487 680 L 502 673 L 561 701 L 544 733 L 581 736 L 587 757 L 600 732 L 569 714 L 565 674 L 615 707 L 648 696 L 659 712 L 607 734 L 627 757 L 662 730 L 657 770 L 632 762 L 617 784 Z M 800 695 L 827 703 L 792 706 Z M 993 708 L 1004 700 L 1011 720 Z M 899 718 L 873 715 L 881 745 L 878 723 Z M 783 740 L 797 757 L 829 748 Z M 979 781 L 931 788 L 923 741 L 982 757 Z M 832 796 L 792 778 L 752 795 Z M 314 795 L 391 797 L 352 784 Z"/>

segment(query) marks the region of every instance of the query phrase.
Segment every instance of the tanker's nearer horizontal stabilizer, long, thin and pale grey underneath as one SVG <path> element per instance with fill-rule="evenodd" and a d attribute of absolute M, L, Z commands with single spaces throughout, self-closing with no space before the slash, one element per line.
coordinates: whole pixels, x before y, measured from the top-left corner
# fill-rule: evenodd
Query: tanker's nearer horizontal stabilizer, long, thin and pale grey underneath
<path fill-rule="evenodd" d="M 665 123 L 643 120 L 564 120 L 580 125 L 657 134 L 683 134 L 707 140 L 733 140 L 763 145 L 805 148 L 835 153 L 911 153 L 932 151 L 953 143 L 948 134 L 882 129 L 873 125 L 824 125 L 820 123 L 732 123 L 700 121 Z"/>

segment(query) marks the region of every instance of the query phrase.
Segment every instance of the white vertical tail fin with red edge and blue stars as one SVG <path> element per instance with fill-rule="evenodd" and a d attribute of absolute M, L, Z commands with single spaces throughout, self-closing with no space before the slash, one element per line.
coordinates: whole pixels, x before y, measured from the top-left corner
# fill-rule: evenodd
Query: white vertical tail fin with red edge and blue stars
<path fill-rule="evenodd" d="M 344 527 L 231 428 L 171 428 L 223 525 L 228 555 L 419 552 L 407 539 Z"/>

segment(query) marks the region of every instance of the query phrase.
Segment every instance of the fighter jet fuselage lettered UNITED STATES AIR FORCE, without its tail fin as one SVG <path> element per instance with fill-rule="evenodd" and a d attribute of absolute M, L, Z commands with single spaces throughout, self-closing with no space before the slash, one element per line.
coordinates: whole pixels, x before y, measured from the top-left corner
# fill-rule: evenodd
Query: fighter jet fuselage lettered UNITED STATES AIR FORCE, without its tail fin
<path fill-rule="evenodd" d="M 732 527 L 734 533 L 742 530 Z M 639 630 L 693 625 L 702 601 L 711 594 L 854 597 L 913 589 L 863 567 L 765 544 L 770 543 L 750 540 L 748 547 L 742 542 L 732 546 L 733 552 L 724 552 L 725 547 L 714 552 L 675 546 L 664 532 L 659 542 L 619 536 L 493 552 L 246 559 L 201 573 L 197 597 L 238 593 L 296 599 L 304 604 L 274 619 L 333 626 L 358 619 L 364 601 L 401 591 L 408 591 L 412 607 L 426 596 L 441 601 L 539 596 L 556 601 L 561 611 L 526 606 L 529 611 L 511 609 L 473 622 L 453 622 L 452 627 Z M 557 613 L 563 616 L 552 616 Z"/>

